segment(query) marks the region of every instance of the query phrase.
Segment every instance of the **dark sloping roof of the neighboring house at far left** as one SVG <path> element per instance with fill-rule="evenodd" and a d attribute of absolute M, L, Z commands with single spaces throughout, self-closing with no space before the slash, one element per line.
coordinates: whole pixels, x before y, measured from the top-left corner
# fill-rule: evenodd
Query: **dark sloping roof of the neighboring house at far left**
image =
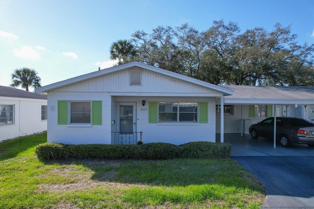
<path fill-rule="evenodd" d="M 27 99 L 39 99 L 47 100 L 47 96 L 36 94 L 33 92 L 24 91 L 8 86 L 0 86 L 0 97 L 16 97 L 16 98 L 27 98 Z"/>

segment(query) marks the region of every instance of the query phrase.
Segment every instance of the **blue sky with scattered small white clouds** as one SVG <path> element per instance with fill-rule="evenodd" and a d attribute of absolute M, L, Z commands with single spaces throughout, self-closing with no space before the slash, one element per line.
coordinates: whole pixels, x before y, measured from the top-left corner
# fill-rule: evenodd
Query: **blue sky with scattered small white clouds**
<path fill-rule="evenodd" d="M 281 23 L 299 44 L 314 43 L 314 0 L 0 0 L 0 85 L 22 67 L 43 86 L 91 73 L 111 67 L 112 42 L 136 30 L 188 23 L 204 31 L 221 19 L 241 32 Z"/>

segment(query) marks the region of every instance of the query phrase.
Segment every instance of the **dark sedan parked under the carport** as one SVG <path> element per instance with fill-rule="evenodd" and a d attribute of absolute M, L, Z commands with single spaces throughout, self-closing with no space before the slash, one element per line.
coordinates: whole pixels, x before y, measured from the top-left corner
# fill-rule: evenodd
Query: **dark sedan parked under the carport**
<path fill-rule="evenodd" d="M 251 137 L 270 138 L 274 137 L 274 117 L 266 118 L 249 128 Z M 292 143 L 307 144 L 314 146 L 314 123 L 293 117 L 276 117 L 276 140 L 284 147 Z"/>

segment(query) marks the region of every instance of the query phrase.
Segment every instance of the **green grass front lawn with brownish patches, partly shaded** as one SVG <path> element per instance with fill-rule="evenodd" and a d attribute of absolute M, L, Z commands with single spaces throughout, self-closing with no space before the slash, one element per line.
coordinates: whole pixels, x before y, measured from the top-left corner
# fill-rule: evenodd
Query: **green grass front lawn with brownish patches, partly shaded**
<path fill-rule="evenodd" d="M 264 189 L 232 159 L 41 162 L 36 134 L 0 143 L 0 208 L 260 209 Z"/>

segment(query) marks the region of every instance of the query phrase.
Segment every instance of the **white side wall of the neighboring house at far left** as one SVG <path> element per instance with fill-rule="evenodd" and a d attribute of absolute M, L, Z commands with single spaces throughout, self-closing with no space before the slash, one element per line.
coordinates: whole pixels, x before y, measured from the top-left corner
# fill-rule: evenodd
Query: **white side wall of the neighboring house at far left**
<path fill-rule="evenodd" d="M 47 120 L 41 120 L 47 100 L 0 97 L 0 104 L 14 105 L 14 124 L 0 126 L 0 141 L 47 131 Z"/>

